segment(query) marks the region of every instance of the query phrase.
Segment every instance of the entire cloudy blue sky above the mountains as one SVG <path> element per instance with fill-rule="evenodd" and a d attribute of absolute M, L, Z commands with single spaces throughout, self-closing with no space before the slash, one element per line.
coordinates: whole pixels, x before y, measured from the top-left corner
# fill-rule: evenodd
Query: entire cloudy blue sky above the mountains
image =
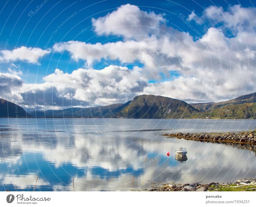
<path fill-rule="evenodd" d="M 27 110 L 256 92 L 255 1 L 1 1 L 0 98 Z"/>

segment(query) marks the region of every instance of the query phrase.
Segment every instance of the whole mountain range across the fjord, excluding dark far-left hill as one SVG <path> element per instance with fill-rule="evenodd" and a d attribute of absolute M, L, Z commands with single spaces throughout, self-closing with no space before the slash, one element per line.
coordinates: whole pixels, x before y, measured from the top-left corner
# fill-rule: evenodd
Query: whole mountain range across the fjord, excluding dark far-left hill
<path fill-rule="evenodd" d="M 188 104 L 164 96 L 140 95 L 125 104 L 112 104 L 91 108 L 34 111 L 33 117 L 98 117 L 98 118 L 256 118 L 256 93 L 239 96 L 219 103 Z"/>

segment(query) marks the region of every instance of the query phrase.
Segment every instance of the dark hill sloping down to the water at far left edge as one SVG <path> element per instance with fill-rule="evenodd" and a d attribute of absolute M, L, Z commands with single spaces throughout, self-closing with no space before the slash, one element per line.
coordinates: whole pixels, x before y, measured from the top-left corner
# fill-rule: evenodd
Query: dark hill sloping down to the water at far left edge
<path fill-rule="evenodd" d="M 0 99 L 0 117 L 30 117 L 20 106 L 10 101 Z"/>

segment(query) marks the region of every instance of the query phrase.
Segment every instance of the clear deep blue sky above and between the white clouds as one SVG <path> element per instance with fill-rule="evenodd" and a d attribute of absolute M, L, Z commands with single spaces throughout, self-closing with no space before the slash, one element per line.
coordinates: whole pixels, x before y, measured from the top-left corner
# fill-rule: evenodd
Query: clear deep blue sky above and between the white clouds
<path fill-rule="evenodd" d="M 196 1 L 199 5 L 193 1 L 47 1 L 40 10 L 36 12 L 36 9 L 40 7 L 43 1 L 31 1 L 31 3 L 24 4 L 22 1 L 1 1 L 1 36 L 0 43 L 1 49 L 4 49 L 5 41 L 8 42 L 8 49 L 12 50 L 15 47 L 27 46 L 27 47 L 39 47 L 44 48 L 47 41 L 51 38 L 52 32 L 55 31 L 58 26 L 68 18 L 70 15 L 77 12 L 75 18 L 71 18 L 59 31 L 53 35 L 46 48 L 52 48 L 56 42 L 60 41 L 85 41 L 90 43 L 97 42 L 111 42 L 120 40 L 120 38 L 111 37 L 99 37 L 95 36 L 92 31 L 91 18 L 98 18 L 105 16 L 108 12 L 115 10 L 122 4 L 134 4 L 139 6 L 143 11 L 155 11 L 155 13 L 165 13 L 164 18 L 168 19 L 167 25 L 173 26 L 181 31 L 189 32 L 195 38 L 198 35 L 191 31 L 185 24 L 180 24 L 177 15 L 180 13 L 188 16 L 191 11 L 195 10 L 197 13 L 202 13 L 204 8 L 209 5 L 213 5 L 211 1 Z M 139 4 L 138 4 L 139 3 Z M 93 5 L 94 4 L 94 5 Z M 228 7 L 224 1 L 214 1 L 217 6 Z M 244 6 L 250 5 L 243 2 Z M 15 8 L 14 8 L 15 7 Z M 36 12 L 31 17 L 28 16 L 29 12 Z M 174 15 L 173 13 L 177 14 Z M 192 23 L 193 24 L 193 23 Z M 196 25 L 194 23 L 194 25 Z M 219 25 L 221 26 L 221 25 Z M 179 28 L 180 27 L 180 28 Z M 204 26 L 197 26 L 200 33 L 206 32 Z M 61 59 L 60 59 L 61 58 Z M 61 61 L 60 61 L 61 60 Z M 104 61 L 102 61 L 104 62 Z M 69 70 L 76 70 L 83 66 L 82 63 L 70 62 L 70 57 L 67 54 L 50 54 L 42 58 L 41 65 L 24 64 L 26 67 L 31 68 L 33 73 L 37 74 L 37 82 L 42 82 L 42 78 L 49 73 L 54 72 L 55 68 L 65 70 L 69 67 Z M 99 64 L 95 63 L 95 68 L 99 67 Z M 8 65 L 8 64 L 7 64 Z M 71 68 L 71 69 L 70 69 Z M 24 70 L 23 67 L 20 70 Z M 6 69 L 7 70 L 7 69 Z M 3 69 L 4 71 L 4 69 Z M 35 75 L 36 76 L 36 75 Z M 30 83 L 33 83 L 34 79 L 29 79 Z"/>

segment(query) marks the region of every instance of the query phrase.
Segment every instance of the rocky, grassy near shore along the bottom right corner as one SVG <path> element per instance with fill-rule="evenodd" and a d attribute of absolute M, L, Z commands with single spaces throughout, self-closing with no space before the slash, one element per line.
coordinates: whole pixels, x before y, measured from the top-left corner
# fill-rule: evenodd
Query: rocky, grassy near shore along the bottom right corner
<path fill-rule="evenodd" d="M 193 183 L 184 185 L 168 185 L 164 184 L 161 187 L 152 188 L 149 191 L 256 191 L 256 180 L 238 180 L 237 182 L 231 183 Z"/>

